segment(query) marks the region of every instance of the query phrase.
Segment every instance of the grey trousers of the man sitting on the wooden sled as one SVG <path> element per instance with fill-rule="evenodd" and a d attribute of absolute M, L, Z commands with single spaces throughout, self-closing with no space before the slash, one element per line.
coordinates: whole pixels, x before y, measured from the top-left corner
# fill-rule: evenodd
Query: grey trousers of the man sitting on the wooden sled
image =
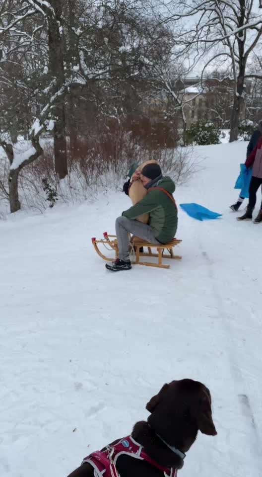
<path fill-rule="evenodd" d="M 129 233 L 150 243 L 157 243 L 157 231 L 150 225 L 142 224 L 127 217 L 118 217 L 116 220 L 116 234 L 120 260 L 129 260 Z"/>

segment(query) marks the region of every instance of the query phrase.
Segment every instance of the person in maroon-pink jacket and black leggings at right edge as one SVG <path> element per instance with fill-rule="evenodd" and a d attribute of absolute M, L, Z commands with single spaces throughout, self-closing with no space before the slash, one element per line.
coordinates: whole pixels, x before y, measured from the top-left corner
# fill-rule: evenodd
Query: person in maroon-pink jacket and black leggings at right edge
<path fill-rule="evenodd" d="M 252 214 L 257 201 L 257 192 L 260 186 L 262 186 L 262 138 L 259 139 L 257 146 L 246 160 L 245 165 L 248 168 L 253 167 L 249 186 L 249 203 L 245 214 L 238 217 L 238 220 L 252 220 Z M 254 222 L 255 224 L 262 223 L 262 208 Z"/>

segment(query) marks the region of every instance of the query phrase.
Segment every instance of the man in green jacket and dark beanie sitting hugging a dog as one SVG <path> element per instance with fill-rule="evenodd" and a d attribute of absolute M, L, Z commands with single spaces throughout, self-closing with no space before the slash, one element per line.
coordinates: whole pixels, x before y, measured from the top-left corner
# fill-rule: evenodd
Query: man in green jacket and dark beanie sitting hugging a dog
<path fill-rule="evenodd" d="M 106 264 L 108 270 L 131 269 L 129 234 L 149 243 L 165 244 L 174 238 L 177 231 L 178 212 L 172 195 L 175 190 L 173 180 L 168 176 L 162 176 L 161 168 L 157 163 L 145 165 L 141 172 L 136 172 L 135 179 L 141 181 L 147 194 L 117 218 L 119 258 L 111 264 Z M 143 214 L 149 214 L 147 224 L 136 220 Z"/>

